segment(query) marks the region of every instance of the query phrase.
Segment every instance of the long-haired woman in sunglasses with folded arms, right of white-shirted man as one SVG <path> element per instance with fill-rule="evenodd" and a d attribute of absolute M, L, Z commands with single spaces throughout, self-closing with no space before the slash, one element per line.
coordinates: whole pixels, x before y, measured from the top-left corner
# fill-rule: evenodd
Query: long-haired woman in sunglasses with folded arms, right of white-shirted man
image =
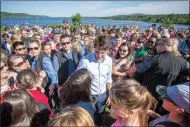
<path fill-rule="evenodd" d="M 126 70 L 132 64 L 132 57 L 130 55 L 130 48 L 127 43 L 121 44 L 119 47 L 115 59 L 113 60 L 113 80 L 120 80 L 126 78 Z"/>

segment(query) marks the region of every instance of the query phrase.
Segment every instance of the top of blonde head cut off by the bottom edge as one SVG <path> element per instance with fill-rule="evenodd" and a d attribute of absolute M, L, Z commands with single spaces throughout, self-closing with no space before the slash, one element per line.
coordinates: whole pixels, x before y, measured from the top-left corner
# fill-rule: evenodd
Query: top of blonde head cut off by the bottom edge
<path fill-rule="evenodd" d="M 93 127 L 94 122 L 90 114 L 83 108 L 68 106 L 61 114 L 54 117 L 48 126 Z"/>

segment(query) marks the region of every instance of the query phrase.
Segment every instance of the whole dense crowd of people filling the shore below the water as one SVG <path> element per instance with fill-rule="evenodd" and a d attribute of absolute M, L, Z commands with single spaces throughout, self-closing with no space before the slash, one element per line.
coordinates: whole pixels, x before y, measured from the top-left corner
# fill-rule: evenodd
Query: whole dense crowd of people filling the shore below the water
<path fill-rule="evenodd" d="M 1 126 L 190 126 L 190 31 L 4 26 Z M 103 122 L 104 121 L 104 122 Z"/>

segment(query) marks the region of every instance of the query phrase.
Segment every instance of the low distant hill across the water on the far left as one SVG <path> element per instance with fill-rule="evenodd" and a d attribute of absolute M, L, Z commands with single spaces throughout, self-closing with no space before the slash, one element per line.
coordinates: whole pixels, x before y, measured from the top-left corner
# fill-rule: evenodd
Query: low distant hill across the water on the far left
<path fill-rule="evenodd" d="M 25 14 L 25 13 L 1 12 L 1 18 L 33 18 L 36 16 L 41 17 L 41 18 L 48 17 L 45 15 L 30 15 L 30 14 Z"/>

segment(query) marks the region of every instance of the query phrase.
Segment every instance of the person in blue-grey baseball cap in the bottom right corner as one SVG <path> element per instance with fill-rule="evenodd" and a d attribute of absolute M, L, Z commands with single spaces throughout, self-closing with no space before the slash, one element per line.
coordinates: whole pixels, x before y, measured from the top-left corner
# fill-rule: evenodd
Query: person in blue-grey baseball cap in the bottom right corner
<path fill-rule="evenodd" d="M 151 121 L 149 125 L 154 127 L 189 127 L 189 88 L 190 82 L 171 87 L 157 86 L 156 91 L 163 99 L 162 107 L 167 110 L 169 114 Z"/>

